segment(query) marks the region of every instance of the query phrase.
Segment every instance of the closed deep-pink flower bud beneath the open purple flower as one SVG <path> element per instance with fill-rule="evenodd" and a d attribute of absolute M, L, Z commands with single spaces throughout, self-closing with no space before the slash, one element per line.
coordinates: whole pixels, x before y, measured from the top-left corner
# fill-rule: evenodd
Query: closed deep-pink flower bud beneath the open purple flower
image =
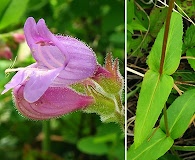
<path fill-rule="evenodd" d="M 69 88 L 49 87 L 39 100 L 29 103 L 24 99 L 24 88 L 25 84 L 13 90 L 16 108 L 22 115 L 34 120 L 59 117 L 94 102 L 92 97 L 80 95 Z"/>

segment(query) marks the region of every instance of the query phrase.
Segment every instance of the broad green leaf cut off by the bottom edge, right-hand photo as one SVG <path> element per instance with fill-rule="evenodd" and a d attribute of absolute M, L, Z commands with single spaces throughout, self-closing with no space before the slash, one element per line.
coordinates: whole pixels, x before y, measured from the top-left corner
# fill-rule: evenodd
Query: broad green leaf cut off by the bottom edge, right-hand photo
<path fill-rule="evenodd" d="M 158 128 L 154 129 L 151 139 L 146 139 L 139 147 L 133 144 L 127 153 L 128 160 L 156 160 L 164 155 L 173 145 L 173 139 L 166 137 L 165 133 Z"/>

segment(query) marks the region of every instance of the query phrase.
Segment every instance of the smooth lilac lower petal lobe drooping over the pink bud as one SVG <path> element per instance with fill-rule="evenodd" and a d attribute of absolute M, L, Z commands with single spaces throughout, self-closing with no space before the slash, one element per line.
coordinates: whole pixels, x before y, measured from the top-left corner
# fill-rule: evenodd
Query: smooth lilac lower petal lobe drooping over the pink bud
<path fill-rule="evenodd" d="M 56 68 L 47 71 L 37 71 L 31 74 L 24 88 L 24 98 L 30 103 L 37 101 L 62 69 L 63 68 Z"/>

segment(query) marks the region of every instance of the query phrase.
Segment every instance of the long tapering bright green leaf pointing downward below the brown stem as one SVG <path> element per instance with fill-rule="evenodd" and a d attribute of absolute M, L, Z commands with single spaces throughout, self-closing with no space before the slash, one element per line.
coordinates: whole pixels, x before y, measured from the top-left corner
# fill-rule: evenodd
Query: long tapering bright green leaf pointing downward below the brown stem
<path fill-rule="evenodd" d="M 173 87 L 171 76 L 146 72 L 136 111 L 134 142 L 138 147 L 151 132 Z"/>

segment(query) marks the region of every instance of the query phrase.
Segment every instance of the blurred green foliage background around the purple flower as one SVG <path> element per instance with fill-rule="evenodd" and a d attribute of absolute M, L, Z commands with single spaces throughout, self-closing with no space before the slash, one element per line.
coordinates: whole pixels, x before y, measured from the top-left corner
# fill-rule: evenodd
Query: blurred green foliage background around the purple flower
<path fill-rule="evenodd" d="M 0 47 L 8 46 L 12 61 L 0 57 L 0 92 L 14 67 L 34 60 L 24 43 L 13 42 L 28 17 L 45 19 L 55 34 L 70 35 L 87 43 L 103 64 L 106 53 L 119 58 L 124 75 L 124 1 L 122 0 L 0 0 Z M 103 124 L 95 114 L 79 111 L 52 119 L 51 148 L 42 149 L 42 122 L 18 114 L 11 91 L 0 96 L 0 158 L 2 160 L 124 160 L 124 133 L 114 123 Z"/>

